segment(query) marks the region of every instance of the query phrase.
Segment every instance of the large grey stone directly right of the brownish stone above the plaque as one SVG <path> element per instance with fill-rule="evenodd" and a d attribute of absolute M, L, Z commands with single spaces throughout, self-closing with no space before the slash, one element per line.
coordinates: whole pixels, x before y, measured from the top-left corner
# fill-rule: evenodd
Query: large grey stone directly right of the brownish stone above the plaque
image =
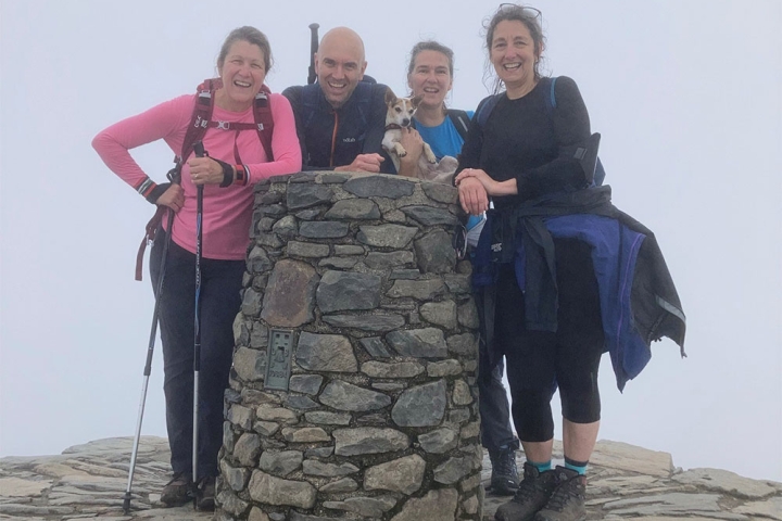
<path fill-rule="evenodd" d="M 380 304 L 380 277 L 369 274 L 329 270 L 317 288 L 323 313 L 374 309 Z"/>

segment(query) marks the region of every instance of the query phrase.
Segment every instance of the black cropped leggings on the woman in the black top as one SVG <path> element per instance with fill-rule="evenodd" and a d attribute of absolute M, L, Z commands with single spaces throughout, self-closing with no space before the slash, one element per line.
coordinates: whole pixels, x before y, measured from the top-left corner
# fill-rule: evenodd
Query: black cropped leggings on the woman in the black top
<path fill-rule="evenodd" d="M 495 338 L 507 359 L 512 411 L 519 439 L 554 437 L 551 399 L 559 386 L 563 417 L 600 420 L 597 369 L 604 351 L 597 280 L 589 244 L 555 239 L 559 307 L 557 331 L 529 331 L 524 294 L 513 265 L 503 265 L 496 290 Z"/>

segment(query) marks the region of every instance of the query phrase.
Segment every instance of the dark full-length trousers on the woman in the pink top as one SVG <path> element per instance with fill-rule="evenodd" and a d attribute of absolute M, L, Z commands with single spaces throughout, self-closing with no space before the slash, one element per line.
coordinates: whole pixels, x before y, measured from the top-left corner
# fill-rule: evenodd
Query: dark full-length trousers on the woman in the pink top
<path fill-rule="evenodd" d="M 157 288 L 166 234 L 157 230 L 150 253 Z M 223 395 L 234 357 L 234 320 L 241 301 L 243 260 L 201 259 L 201 367 L 199 371 L 198 475 L 217 475 L 223 444 Z M 163 390 L 174 472 L 192 472 L 195 255 L 171 242 L 159 307 L 163 341 Z"/>

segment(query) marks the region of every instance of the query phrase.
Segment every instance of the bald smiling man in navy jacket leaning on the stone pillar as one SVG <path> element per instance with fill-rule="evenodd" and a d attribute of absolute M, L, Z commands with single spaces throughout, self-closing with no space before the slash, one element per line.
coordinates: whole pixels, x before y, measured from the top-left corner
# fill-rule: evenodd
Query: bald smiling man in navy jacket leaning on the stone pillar
<path fill-rule="evenodd" d="M 395 174 L 381 145 L 388 87 L 363 81 L 366 66 L 361 37 L 337 27 L 315 53 L 317 82 L 282 92 L 293 107 L 305 170 Z"/>

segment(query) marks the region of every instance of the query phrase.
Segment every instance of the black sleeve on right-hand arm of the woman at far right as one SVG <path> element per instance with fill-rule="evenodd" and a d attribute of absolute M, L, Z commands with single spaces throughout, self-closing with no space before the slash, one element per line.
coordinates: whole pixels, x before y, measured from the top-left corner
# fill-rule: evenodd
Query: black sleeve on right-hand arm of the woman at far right
<path fill-rule="evenodd" d="M 545 96 L 550 94 L 546 92 Z M 552 112 L 552 122 L 557 147 L 562 150 L 585 141 L 591 135 L 589 113 L 576 81 L 567 76 L 559 76 L 555 84 L 555 98 L 556 107 Z M 516 186 L 522 199 L 537 198 L 566 187 L 581 188 L 583 183 L 581 164 L 571 156 L 559 156 L 551 163 L 524 170 L 516 176 Z"/>

